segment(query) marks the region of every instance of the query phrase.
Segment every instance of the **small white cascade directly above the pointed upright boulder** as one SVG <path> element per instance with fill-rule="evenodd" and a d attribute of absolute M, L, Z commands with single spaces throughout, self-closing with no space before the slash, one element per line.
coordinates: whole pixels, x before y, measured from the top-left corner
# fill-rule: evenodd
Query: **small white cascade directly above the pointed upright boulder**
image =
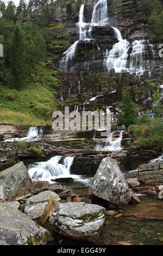
<path fill-rule="evenodd" d="M 112 132 L 106 141 L 98 142 L 96 144 L 96 148 L 108 151 L 121 150 L 123 131 L 120 131 L 118 138 L 115 138 L 115 136 L 117 137 L 117 135 L 115 135 L 115 132 Z"/>

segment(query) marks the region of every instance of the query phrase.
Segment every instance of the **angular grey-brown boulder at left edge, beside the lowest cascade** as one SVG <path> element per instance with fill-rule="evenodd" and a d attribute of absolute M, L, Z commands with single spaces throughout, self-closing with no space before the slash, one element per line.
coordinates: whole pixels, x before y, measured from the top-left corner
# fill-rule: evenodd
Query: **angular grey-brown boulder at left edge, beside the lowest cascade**
<path fill-rule="evenodd" d="M 23 162 L 0 172 L 0 200 L 13 201 L 33 190 L 33 182 Z"/>

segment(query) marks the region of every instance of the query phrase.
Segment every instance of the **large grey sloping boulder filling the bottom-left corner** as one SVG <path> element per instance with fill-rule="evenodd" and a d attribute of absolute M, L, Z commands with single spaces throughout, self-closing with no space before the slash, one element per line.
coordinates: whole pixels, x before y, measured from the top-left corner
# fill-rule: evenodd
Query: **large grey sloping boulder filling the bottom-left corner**
<path fill-rule="evenodd" d="M 0 204 L 0 245 L 44 245 L 49 232 L 19 210 Z"/>

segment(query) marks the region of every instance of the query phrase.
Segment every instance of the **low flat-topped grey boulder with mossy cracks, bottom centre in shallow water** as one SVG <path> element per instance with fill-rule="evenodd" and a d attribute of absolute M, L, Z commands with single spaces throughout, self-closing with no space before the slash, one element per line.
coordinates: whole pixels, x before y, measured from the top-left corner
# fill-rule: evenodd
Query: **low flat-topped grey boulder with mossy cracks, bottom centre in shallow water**
<path fill-rule="evenodd" d="M 74 240 L 95 242 L 104 224 L 105 208 L 95 204 L 65 203 L 49 217 L 53 230 Z"/>

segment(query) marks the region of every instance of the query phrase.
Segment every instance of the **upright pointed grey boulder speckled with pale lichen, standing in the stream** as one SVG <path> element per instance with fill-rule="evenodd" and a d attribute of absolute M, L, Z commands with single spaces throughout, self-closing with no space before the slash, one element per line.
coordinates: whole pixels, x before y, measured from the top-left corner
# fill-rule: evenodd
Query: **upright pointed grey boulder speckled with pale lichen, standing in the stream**
<path fill-rule="evenodd" d="M 95 176 L 89 183 L 89 195 L 114 205 L 127 204 L 132 193 L 118 164 L 111 157 L 102 160 Z"/>

